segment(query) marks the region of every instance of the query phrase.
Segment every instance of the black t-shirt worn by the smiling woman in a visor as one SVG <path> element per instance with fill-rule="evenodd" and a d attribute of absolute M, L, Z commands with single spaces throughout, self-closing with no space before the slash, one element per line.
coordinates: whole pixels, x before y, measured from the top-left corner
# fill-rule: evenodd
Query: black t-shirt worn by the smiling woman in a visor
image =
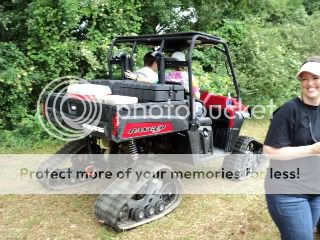
<path fill-rule="evenodd" d="M 311 123 L 311 126 L 310 126 Z M 275 111 L 264 144 L 274 148 L 306 146 L 320 141 L 320 107 L 303 103 L 300 98 L 286 102 Z M 294 179 L 275 179 L 279 171 L 297 172 Z M 271 160 L 266 176 L 267 193 L 320 193 L 320 159 L 304 157 L 292 160 Z"/>

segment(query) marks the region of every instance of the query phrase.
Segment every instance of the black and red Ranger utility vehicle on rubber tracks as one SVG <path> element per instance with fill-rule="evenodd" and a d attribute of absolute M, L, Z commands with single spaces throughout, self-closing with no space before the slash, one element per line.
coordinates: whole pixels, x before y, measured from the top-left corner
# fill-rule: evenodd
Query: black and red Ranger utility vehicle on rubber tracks
<path fill-rule="evenodd" d="M 126 70 L 136 69 L 134 60 L 137 48 L 141 45 L 152 49 L 157 59 L 159 76 L 157 84 L 137 82 L 125 77 Z M 119 53 L 119 49 L 123 46 L 125 50 Z M 200 100 L 196 100 L 190 94 L 193 81 L 192 64 L 196 58 L 194 56 L 196 48 L 200 48 L 198 54 L 199 51 L 206 53 L 206 49 L 211 49 L 210 51 L 214 49 L 223 56 L 221 61 L 225 64 L 226 72 L 234 88 L 232 98 L 227 94 L 223 96 L 203 91 Z M 171 54 L 175 51 L 186 52 L 186 61 L 171 58 Z M 188 72 L 189 89 L 179 84 L 166 82 L 166 71 L 177 66 L 185 67 Z M 214 71 L 210 68 L 209 70 Z M 120 79 L 116 79 L 117 77 Z M 108 86 L 112 95 L 135 97 L 137 102 L 127 104 L 125 108 L 122 108 L 121 105 L 119 107 L 116 102 L 103 102 L 99 105 L 101 111 L 99 121 L 95 124 L 89 122 L 82 125 L 86 131 L 90 131 L 90 134 L 84 139 L 66 144 L 53 158 L 41 164 L 42 171 L 57 170 L 58 164 L 66 161 L 60 157 L 60 154 L 102 154 L 106 149 L 109 154 L 130 154 L 133 168 L 149 169 L 153 172 L 163 169 L 170 171 L 170 167 L 154 161 L 139 164 L 139 154 L 188 154 L 190 157 L 185 161 L 190 164 L 202 162 L 212 156 L 219 157 L 225 153 L 243 154 L 243 157 L 235 158 L 233 154 L 225 157 L 222 166 L 224 169 L 237 171 L 238 179 L 247 177 L 259 165 L 255 154 L 261 153 L 262 144 L 250 137 L 239 136 L 242 123 L 250 116 L 250 111 L 241 104 L 239 84 L 227 44 L 218 37 L 201 32 L 117 37 L 110 46 L 108 78 L 91 80 L 90 83 Z M 72 122 L 72 119 L 84 114 L 84 106 L 89 108 L 95 104 L 94 100 L 86 96 L 69 96 L 63 101 L 65 97 L 61 93 L 51 93 L 46 96 L 47 104 L 44 106 L 44 112 L 50 122 Z M 195 101 L 203 104 L 208 110 L 207 115 L 197 116 L 194 113 Z M 168 103 L 170 108 L 167 107 Z M 154 105 L 157 105 L 154 112 L 145 113 L 143 111 L 143 109 L 152 109 Z M 177 114 L 182 115 L 183 109 L 188 109 L 190 114 L 185 118 L 176 116 Z M 226 114 L 219 116 L 219 110 Z M 157 111 L 161 112 L 161 116 L 152 117 L 157 114 Z M 126 117 L 123 117 L 124 115 Z M 96 120 L 94 115 L 90 118 Z M 102 147 L 103 145 L 99 144 L 100 140 L 107 147 Z M 83 166 L 83 168 L 104 167 L 97 161 L 79 159 L 73 158 L 72 164 Z M 181 186 L 178 179 L 159 179 L 159 181 L 161 182 L 160 189 L 159 184 L 155 184 L 158 186 L 156 188 L 151 182 L 139 182 L 135 183 L 138 186 L 132 186 L 126 185 L 124 180 L 116 180 L 110 186 L 106 186 L 105 193 L 98 197 L 95 205 L 97 218 L 121 231 L 164 216 L 180 203 L 181 194 L 177 193 L 177 189 Z M 66 187 L 66 183 L 60 186 L 59 182 L 50 177 L 41 180 L 41 183 L 52 189 Z M 69 182 L 70 186 L 77 183 L 77 180 Z M 146 184 L 154 190 L 151 191 L 153 194 L 112 194 L 115 189 L 140 189 Z"/>

